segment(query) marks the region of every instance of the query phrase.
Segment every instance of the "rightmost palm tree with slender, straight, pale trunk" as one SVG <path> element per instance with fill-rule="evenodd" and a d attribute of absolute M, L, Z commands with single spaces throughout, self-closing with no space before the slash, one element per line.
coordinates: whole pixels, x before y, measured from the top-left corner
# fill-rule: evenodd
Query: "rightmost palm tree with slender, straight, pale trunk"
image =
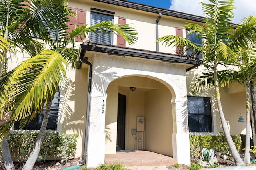
<path fill-rule="evenodd" d="M 241 25 L 249 24 L 255 17 L 250 16 L 244 18 Z M 238 26 L 239 28 L 240 26 Z M 256 35 L 251 35 L 251 38 L 246 38 L 246 48 L 239 47 L 237 50 L 238 58 L 237 67 L 227 70 L 218 71 L 218 80 L 222 87 L 232 84 L 236 81 L 246 87 L 246 145 L 244 154 L 244 163 L 250 163 L 250 88 L 252 81 L 256 79 Z M 197 93 L 206 87 L 214 85 L 214 74 L 212 71 L 201 73 L 197 76 L 192 84 L 192 92 Z"/>

